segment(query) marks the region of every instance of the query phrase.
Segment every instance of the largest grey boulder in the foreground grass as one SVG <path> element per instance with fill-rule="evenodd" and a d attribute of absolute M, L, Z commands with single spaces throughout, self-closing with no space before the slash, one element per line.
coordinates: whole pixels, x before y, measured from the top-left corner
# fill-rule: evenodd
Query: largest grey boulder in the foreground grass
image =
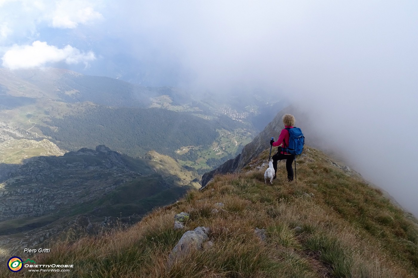
<path fill-rule="evenodd" d="M 209 233 L 209 228 L 207 227 L 197 227 L 193 231 L 184 233 L 171 251 L 170 262 L 172 263 L 178 256 L 187 253 L 191 248 L 196 250 L 202 249 L 203 243 L 209 238 Z"/>

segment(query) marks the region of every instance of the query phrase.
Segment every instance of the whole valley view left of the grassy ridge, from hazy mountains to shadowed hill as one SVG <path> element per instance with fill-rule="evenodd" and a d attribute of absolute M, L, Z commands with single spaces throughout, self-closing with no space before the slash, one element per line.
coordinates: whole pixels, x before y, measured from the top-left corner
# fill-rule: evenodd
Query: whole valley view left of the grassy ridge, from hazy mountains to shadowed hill
<path fill-rule="evenodd" d="M 0 70 L 0 256 L 138 222 L 251 142 L 263 104 L 47 68 Z M 261 111 L 261 112 L 260 112 Z"/>

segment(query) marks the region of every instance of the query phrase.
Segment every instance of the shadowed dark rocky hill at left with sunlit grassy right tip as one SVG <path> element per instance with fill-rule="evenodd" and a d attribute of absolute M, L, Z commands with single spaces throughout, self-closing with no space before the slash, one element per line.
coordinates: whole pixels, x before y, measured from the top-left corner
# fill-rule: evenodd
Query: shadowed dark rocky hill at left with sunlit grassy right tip
<path fill-rule="evenodd" d="M 16 141 L 26 147 L 52 144 Z M 0 169 L 5 165 L 11 164 L 0 164 Z M 91 229 L 95 233 L 103 218 L 124 217 L 132 224 L 154 207 L 200 187 L 192 182 L 197 176 L 170 157 L 152 152 L 148 159 L 134 159 L 103 145 L 62 156 L 31 157 L 4 176 L 0 180 L 0 257 L 6 251 L 20 253 L 42 243 L 78 223 L 82 215 L 87 225 L 95 225 Z M 78 227 L 84 229 L 83 225 Z"/>

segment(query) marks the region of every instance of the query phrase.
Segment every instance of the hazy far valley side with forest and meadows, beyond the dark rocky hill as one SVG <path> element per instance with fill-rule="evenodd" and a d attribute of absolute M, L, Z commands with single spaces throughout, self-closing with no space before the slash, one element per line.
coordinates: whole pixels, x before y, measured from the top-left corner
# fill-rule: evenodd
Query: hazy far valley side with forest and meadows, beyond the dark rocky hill
<path fill-rule="evenodd" d="M 131 157 L 153 149 L 203 173 L 251 140 L 251 117 L 263 111 L 260 101 L 237 111 L 243 101 L 207 98 L 58 68 L 0 69 L 0 140 L 49 139 L 72 151 L 105 144 Z"/>

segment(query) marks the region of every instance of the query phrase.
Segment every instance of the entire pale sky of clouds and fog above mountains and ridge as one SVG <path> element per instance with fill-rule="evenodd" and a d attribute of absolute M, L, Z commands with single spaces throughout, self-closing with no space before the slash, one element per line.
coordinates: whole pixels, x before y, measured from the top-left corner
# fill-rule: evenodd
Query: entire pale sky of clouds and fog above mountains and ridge
<path fill-rule="evenodd" d="M 0 6 L 20 2 L 32 3 Z M 25 68 L 14 57 L 38 45 L 59 54 L 38 57 L 40 66 L 136 74 L 219 98 L 240 90 L 269 92 L 266 102 L 286 97 L 324 144 L 418 216 L 418 2 L 144 2 L 83 1 L 71 10 L 57 1 L 44 5 L 48 16 L 41 8 L 26 16 L 40 24 L 31 30 L 0 22 L 3 66 Z M 12 40 L 13 26 L 25 36 Z"/>

